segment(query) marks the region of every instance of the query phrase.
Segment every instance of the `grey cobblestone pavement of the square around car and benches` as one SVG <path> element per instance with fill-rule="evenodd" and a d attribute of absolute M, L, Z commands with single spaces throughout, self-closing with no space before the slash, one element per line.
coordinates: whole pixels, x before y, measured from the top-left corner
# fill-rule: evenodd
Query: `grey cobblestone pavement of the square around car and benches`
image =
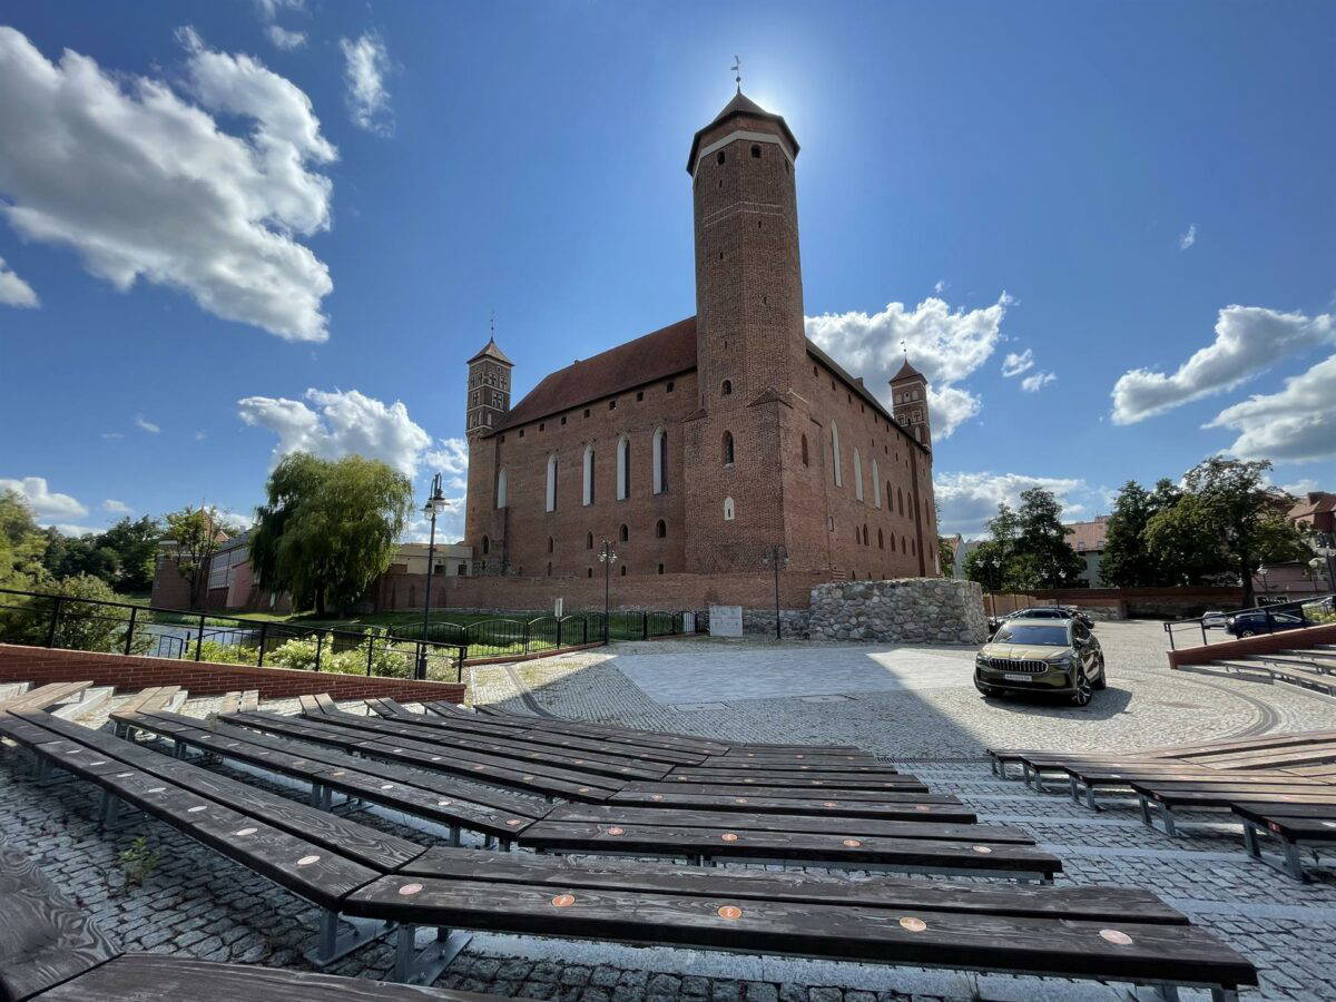
<path fill-rule="evenodd" d="M 473 697 L 516 712 L 540 711 L 589 720 L 739 740 L 839 741 L 867 747 L 914 772 L 941 792 L 954 792 L 981 822 L 1029 830 L 1065 863 L 1059 883 L 1133 884 L 1154 890 L 1192 919 L 1249 957 L 1261 970 L 1259 998 L 1336 998 L 1336 871 L 1315 871 L 1299 884 L 1249 860 L 1224 815 L 1186 815 L 1197 822 L 1169 839 L 1146 828 L 1130 804 L 1110 800 L 1092 812 L 1066 796 L 1042 795 L 999 780 L 982 764 L 989 744 L 1054 748 L 1138 748 L 1271 729 L 1336 728 L 1336 701 L 1205 673 L 1169 672 L 1157 624 L 1100 624 L 1110 688 L 1086 712 L 1067 707 L 985 701 L 970 685 L 961 652 L 958 684 L 916 685 L 899 672 L 883 689 L 804 688 L 774 692 L 774 681 L 739 688 L 737 677 L 764 673 L 771 660 L 810 665 L 830 680 L 855 677 L 867 664 L 907 664 L 888 648 L 867 644 L 808 645 L 711 640 L 620 644 L 611 652 L 490 667 L 474 672 Z M 921 657 L 930 649 L 914 648 Z M 660 660 L 661 659 L 661 660 Z M 632 671 L 624 672 L 621 665 Z M 684 703 L 661 703 L 637 684 L 656 665 L 680 691 L 692 671 L 699 684 Z M 739 665 L 747 665 L 745 671 Z M 850 668 L 854 665 L 854 668 Z M 855 671 L 855 675 L 847 675 Z M 737 676 L 727 699 L 712 680 Z M 866 676 L 864 676 L 866 677 Z M 653 683 L 648 683 L 653 688 Z M 665 684 L 661 692 L 667 692 Z M 740 696 L 736 693 L 741 693 Z M 748 696 L 748 693 L 759 693 Z M 852 696 L 852 697 L 848 697 Z M 673 696 L 676 699 L 676 696 Z M 119 700 L 116 700 L 119 701 Z M 98 725 L 115 708 L 104 704 L 86 723 Z M 708 704 L 705 708 L 684 708 Z M 216 700 L 199 699 L 184 712 L 203 716 Z M 291 711 L 291 703 L 266 704 Z M 250 771 L 223 772 L 301 796 Z M 371 810 L 359 820 L 422 843 L 440 828 Z M 119 862 L 143 836 L 159 854 L 140 886 L 124 884 Z M 180 953 L 273 966 L 306 967 L 315 910 L 164 824 L 134 819 L 99 834 L 91 787 L 68 782 L 39 787 L 25 759 L 11 749 L 0 760 L 0 839 L 37 863 L 126 949 Z M 854 879 L 859 874 L 851 875 Z M 933 879 L 929 876 L 915 879 Z M 959 879 L 959 878 L 954 878 Z M 393 962 L 387 943 L 342 961 L 339 974 L 383 978 Z M 1116 999 L 1125 986 L 1059 979 L 966 975 L 953 971 L 880 969 L 812 961 L 729 955 L 665 947 L 577 943 L 536 937 L 480 934 L 437 982 L 470 991 L 570 1002 L 884 1002 L 892 998 Z M 1185 993 L 1189 994 L 1190 993 Z"/>

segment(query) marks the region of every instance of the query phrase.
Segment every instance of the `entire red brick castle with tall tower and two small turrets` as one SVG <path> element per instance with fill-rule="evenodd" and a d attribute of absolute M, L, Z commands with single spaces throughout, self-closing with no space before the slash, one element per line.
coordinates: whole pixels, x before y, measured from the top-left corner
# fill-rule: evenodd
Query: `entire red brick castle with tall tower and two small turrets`
<path fill-rule="evenodd" d="M 888 413 L 804 334 L 798 150 L 740 90 L 696 132 L 695 317 L 550 373 L 514 406 L 496 341 L 469 359 L 464 541 L 484 580 L 453 582 L 457 601 L 500 595 L 489 576 L 528 608 L 530 592 L 574 607 L 595 581 L 601 599 L 605 540 L 615 591 L 679 608 L 763 608 L 774 545 L 788 605 L 814 581 L 938 574 L 926 379 L 906 359 Z"/>

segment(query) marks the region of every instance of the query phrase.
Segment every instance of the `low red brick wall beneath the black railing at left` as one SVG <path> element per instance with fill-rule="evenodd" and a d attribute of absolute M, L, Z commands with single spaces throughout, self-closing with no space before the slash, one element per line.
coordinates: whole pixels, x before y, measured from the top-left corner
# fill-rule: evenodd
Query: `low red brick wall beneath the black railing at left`
<path fill-rule="evenodd" d="M 465 688 L 441 681 L 367 679 L 361 675 L 178 661 L 170 657 L 126 657 L 16 644 L 0 644 L 0 680 L 31 681 L 33 685 L 91 680 L 95 685 L 114 685 L 118 691 L 130 692 L 151 685 L 180 685 L 192 696 L 219 696 L 238 689 L 259 689 L 261 699 L 327 692 L 337 700 L 382 696 L 405 701 L 448 703 L 461 703 Z"/>

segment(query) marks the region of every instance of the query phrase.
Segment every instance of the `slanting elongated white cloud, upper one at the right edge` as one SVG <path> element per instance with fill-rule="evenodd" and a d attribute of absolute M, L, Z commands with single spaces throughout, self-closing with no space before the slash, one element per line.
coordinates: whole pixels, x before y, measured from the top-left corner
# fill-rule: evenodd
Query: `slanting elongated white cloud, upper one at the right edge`
<path fill-rule="evenodd" d="M 1261 306 L 1226 306 L 1216 339 L 1173 375 L 1132 369 L 1113 386 L 1113 421 L 1130 425 L 1245 382 L 1284 355 L 1336 341 L 1336 315 L 1305 317 Z"/>

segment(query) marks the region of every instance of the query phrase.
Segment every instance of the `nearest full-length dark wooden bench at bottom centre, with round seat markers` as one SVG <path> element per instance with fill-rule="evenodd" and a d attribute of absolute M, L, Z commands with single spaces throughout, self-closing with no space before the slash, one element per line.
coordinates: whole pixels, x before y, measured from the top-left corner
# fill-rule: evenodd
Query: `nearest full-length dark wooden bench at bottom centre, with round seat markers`
<path fill-rule="evenodd" d="M 432 850 L 350 898 L 357 914 L 399 923 L 398 979 L 418 970 L 414 935 L 428 926 L 1126 981 L 1166 994 L 1190 985 L 1217 999 L 1257 983 L 1253 965 L 1138 891 L 795 882 L 772 872 L 589 867 L 546 856 L 474 862 L 456 852 Z"/>

